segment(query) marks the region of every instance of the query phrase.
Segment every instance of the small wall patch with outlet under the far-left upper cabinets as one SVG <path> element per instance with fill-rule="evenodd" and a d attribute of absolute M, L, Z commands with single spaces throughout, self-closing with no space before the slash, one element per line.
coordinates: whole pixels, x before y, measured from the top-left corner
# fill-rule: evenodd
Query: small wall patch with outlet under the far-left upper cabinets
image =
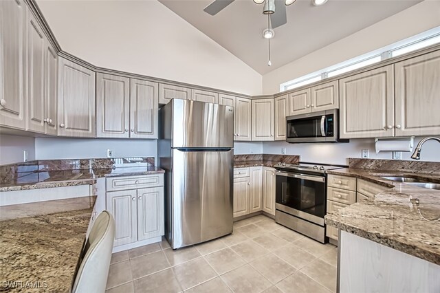
<path fill-rule="evenodd" d="M 35 160 L 35 138 L 0 135 L 0 165 L 23 162 L 23 151 L 28 151 L 28 161 Z"/>

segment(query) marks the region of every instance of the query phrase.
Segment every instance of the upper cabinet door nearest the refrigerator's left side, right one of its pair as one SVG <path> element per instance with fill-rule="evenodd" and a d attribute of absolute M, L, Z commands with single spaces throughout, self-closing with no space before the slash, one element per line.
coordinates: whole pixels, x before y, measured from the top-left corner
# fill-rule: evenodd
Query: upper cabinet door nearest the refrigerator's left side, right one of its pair
<path fill-rule="evenodd" d="M 157 138 L 158 85 L 130 79 L 130 137 Z"/>

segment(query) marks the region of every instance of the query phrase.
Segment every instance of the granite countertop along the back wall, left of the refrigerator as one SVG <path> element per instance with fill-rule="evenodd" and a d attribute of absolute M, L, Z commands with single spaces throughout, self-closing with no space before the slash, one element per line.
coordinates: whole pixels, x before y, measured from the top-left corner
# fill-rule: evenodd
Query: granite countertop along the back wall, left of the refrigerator
<path fill-rule="evenodd" d="M 156 166 L 109 167 L 74 170 L 35 170 L 16 172 L 3 178 L 0 191 L 21 191 L 27 189 L 87 185 L 96 183 L 96 178 L 135 176 L 164 173 Z"/>

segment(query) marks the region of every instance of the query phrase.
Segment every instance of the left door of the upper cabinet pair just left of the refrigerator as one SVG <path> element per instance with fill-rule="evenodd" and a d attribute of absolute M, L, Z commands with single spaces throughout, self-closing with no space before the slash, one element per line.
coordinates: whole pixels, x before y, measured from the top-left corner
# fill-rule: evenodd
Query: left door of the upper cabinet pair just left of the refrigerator
<path fill-rule="evenodd" d="M 129 138 L 130 78 L 96 74 L 96 136 Z"/>

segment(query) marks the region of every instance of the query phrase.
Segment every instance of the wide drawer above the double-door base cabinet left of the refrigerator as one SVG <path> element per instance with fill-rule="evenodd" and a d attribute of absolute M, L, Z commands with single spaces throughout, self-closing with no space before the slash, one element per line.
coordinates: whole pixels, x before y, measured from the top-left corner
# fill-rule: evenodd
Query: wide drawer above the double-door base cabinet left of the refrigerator
<path fill-rule="evenodd" d="M 164 174 L 107 178 L 107 191 L 164 186 Z"/>

